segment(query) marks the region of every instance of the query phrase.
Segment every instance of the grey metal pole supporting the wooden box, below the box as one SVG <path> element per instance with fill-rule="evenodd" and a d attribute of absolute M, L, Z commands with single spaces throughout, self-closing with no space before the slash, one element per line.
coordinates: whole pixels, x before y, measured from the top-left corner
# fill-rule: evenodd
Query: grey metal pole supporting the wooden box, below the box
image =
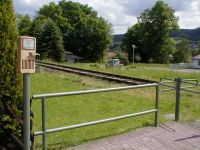
<path fill-rule="evenodd" d="M 23 74 L 23 143 L 24 150 L 30 150 L 30 74 Z"/>

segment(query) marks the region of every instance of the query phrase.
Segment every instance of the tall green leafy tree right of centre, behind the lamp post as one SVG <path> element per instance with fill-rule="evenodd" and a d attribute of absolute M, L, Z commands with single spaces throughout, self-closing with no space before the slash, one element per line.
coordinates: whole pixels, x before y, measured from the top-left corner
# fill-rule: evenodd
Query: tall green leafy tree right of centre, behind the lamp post
<path fill-rule="evenodd" d="M 143 62 L 168 63 L 170 55 L 174 53 L 175 42 L 169 37 L 170 33 L 178 30 L 178 18 L 168 4 L 159 0 L 151 9 L 146 9 L 138 23 L 130 28 L 123 44 L 130 49 L 127 43 L 134 43 L 139 47 Z M 134 34 L 134 35 L 132 35 Z M 132 36 L 132 38 L 129 38 Z M 127 41 L 134 39 L 134 41 Z M 139 43 L 139 45 L 137 45 Z M 129 55 L 131 50 L 128 50 Z"/>

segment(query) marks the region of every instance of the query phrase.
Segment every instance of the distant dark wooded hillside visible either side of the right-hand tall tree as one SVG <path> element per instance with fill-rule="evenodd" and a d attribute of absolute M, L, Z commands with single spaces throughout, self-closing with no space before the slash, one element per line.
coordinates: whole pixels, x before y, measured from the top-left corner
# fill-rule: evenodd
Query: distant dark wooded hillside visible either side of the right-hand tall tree
<path fill-rule="evenodd" d="M 196 42 L 200 41 L 200 28 L 197 29 L 180 29 L 178 32 L 171 34 L 171 37 L 179 39 L 181 37 L 187 38 L 189 41 Z M 120 50 L 121 41 L 124 38 L 124 34 L 113 35 L 113 46 L 110 50 L 117 51 Z"/>

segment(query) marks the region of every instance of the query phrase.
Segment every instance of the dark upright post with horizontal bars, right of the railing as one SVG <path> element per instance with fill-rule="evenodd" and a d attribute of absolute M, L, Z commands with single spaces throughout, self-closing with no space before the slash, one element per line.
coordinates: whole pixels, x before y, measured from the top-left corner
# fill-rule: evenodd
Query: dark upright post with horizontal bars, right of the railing
<path fill-rule="evenodd" d="M 175 121 L 179 121 L 180 111 L 180 92 L 181 92 L 181 78 L 176 78 L 176 108 L 175 108 Z"/>

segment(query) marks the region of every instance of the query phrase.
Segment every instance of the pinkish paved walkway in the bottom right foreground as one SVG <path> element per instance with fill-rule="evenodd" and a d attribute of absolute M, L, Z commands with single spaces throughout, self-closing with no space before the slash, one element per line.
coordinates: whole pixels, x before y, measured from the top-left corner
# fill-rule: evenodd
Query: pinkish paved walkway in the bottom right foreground
<path fill-rule="evenodd" d="M 67 150 L 200 150 L 200 129 L 167 123 L 100 139 Z"/>

